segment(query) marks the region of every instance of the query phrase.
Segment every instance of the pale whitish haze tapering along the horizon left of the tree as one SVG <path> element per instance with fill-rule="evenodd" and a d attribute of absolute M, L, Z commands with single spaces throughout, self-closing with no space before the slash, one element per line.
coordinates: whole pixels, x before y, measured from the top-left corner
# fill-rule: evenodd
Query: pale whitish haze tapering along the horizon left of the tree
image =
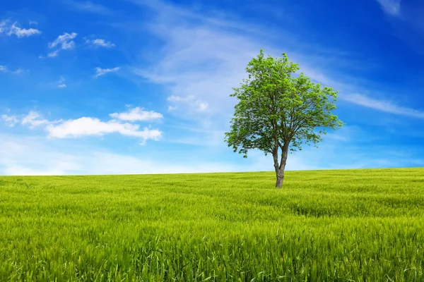
<path fill-rule="evenodd" d="M 169 158 L 158 159 L 146 154 L 117 154 L 98 147 L 81 147 L 73 142 L 57 143 L 0 134 L 0 175 L 193 173 L 243 169 L 225 162 L 196 160 L 179 164 Z"/>

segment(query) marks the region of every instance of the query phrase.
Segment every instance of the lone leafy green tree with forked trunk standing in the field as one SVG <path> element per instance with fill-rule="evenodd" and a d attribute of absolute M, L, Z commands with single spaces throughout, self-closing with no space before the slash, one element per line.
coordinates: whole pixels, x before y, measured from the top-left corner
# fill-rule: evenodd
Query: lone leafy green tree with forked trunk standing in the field
<path fill-rule="evenodd" d="M 245 158 L 249 149 L 272 154 L 276 188 L 283 186 L 289 151 L 301 150 L 303 144 L 317 147 L 326 128 L 343 125 L 332 114 L 337 92 L 314 84 L 303 73 L 294 75 L 298 70 L 285 53 L 273 58 L 261 50 L 247 65 L 248 78 L 230 95 L 238 103 L 225 142 Z"/>

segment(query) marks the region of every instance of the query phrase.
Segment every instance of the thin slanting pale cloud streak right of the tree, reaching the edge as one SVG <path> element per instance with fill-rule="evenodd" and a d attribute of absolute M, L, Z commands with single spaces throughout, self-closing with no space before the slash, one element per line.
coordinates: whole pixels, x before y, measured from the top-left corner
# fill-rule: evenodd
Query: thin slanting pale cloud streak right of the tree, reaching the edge
<path fill-rule="evenodd" d="M 398 106 L 396 104 L 383 100 L 372 99 L 361 94 L 343 95 L 343 99 L 353 104 L 366 106 L 367 108 L 375 109 L 378 111 L 384 111 L 389 114 L 411 116 L 413 118 L 424 118 L 423 111 L 417 111 L 415 109 L 407 108 L 404 106 Z"/>

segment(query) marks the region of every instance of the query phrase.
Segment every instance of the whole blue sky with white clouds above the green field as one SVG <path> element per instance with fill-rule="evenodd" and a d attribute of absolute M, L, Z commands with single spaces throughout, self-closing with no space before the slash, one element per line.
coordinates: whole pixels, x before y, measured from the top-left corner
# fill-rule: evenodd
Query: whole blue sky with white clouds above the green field
<path fill-rule="evenodd" d="M 247 62 L 285 52 L 346 125 L 290 170 L 424 166 L 424 4 L 3 1 L 0 174 L 271 171 L 223 133 Z"/>

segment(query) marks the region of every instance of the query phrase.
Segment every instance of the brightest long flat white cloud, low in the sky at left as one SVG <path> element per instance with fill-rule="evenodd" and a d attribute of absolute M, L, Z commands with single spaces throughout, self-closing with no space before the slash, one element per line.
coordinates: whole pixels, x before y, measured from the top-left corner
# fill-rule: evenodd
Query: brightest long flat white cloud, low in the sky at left
<path fill-rule="evenodd" d="M 64 121 L 58 125 L 49 124 L 46 127 L 49 137 L 68 138 L 83 136 L 102 136 L 105 134 L 119 133 L 125 136 L 141 137 L 145 140 L 158 140 L 162 133 L 157 129 L 143 128 L 131 123 L 120 123 L 119 121 L 100 121 L 98 118 L 78 118 Z"/>

